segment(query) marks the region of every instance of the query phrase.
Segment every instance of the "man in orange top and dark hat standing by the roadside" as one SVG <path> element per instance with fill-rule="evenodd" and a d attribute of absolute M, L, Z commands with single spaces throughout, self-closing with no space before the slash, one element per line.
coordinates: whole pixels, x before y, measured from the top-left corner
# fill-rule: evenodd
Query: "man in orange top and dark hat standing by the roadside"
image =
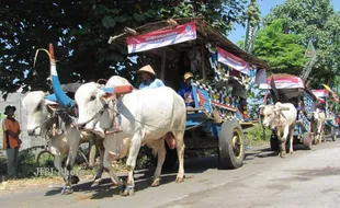
<path fill-rule="evenodd" d="M 19 148 L 22 142 L 19 138 L 21 132 L 19 122 L 13 117 L 15 111 L 15 106 L 8 105 L 3 113 L 7 118 L 2 122 L 3 149 L 8 158 L 7 171 L 9 176 L 15 175 L 19 164 Z"/>

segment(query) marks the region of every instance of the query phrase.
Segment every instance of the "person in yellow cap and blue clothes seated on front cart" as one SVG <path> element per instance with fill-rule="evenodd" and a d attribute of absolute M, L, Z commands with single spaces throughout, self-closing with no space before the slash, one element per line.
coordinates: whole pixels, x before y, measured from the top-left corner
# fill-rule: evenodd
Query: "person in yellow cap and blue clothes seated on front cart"
<path fill-rule="evenodd" d="M 192 72 L 184 73 L 184 82 L 181 84 L 178 94 L 181 95 L 185 102 L 186 107 L 195 107 L 194 97 L 192 94 L 191 80 L 193 79 Z"/>

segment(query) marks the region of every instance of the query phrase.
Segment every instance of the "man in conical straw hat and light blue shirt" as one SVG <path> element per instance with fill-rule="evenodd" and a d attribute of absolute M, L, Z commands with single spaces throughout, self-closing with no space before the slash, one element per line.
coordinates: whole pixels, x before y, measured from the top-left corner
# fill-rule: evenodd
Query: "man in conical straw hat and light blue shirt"
<path fill-rule="evenodd" d="M 156 78 L 156 73 L 152 67 L 149 65 L 140 68 L 137 72 L 141 76 L 143 79 L 143 82 L 139 85 L 139 90 L 155 89 L 165 85 L 165 83 L 160 79 Z"/>

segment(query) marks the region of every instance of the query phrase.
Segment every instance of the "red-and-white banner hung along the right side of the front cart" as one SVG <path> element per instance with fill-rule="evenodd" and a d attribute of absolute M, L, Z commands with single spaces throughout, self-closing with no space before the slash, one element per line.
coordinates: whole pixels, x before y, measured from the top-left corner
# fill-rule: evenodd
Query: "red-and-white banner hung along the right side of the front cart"
<path fill-rule="evenodd" d="M 218 57 L 217 60 L 219 62 L 227 65 L 227 66 L 231 67 L 233 69 L 240 71 L 241 73 L 246 73 L 246 74 L 250 76 L 250 67 L 246 60 L 243 60 L 243 59 L 241 59 L 241 58 L 239 58 L 239 57 L 237 57 L 237 56 L 235 56 L 235 55 L 233 55 L 233 54 L 230 54 L 230 53 L 228 53 L 222 48 L 217 48 L 217 57 Z"/>

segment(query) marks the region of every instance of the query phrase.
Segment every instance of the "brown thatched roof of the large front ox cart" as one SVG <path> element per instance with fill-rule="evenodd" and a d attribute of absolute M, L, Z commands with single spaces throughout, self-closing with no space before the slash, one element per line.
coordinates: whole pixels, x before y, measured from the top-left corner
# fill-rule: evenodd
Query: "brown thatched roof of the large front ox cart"
<path fill-rule="evenodd" d="M 206 21 L 203 19 L 173 19 L 179 24 L 184 24 L 190 21 L 194 21 L 196 24 L 196 34 L 197 38 L 201 42 L 184 42 L 177 45 L 170 45 L 167 47 L 156 48 L 151 50 L 147 50 L 148 54 L 157 57 L 161 57 L 160 50 L 167 51 L 167 59 L 173 60 L 175 57 L 178 57 L 179 53 L 188 47 L 193 47 L 195 45 L 201 46 L 201 43 L 203 41 L 207 41 L 208 43 L 218 46 L 230 54 L 243 59 L 245 61 L 249 62 L 250 65 L 257 66 L 260 69 L 270 69 L 270 67 L 262 60 L 258 59 L 257 57 L 246 53 L 245 50 L 240 49 L 238 46 L 236 46 L 234 43 L 231 43 L 227 37 L 225 37 L 218 30 L 214 28 L 212 25 L 209 25 Z M 160 31 L 160 30 L 167 30 L 171 28 L 171 26 L 166 20 L 159 21 L 159 22 L 152 22 L 145 24 L 143 26 L 134 28 L 134 31 L 137 32 L 137 35 L 146 34 L 154 31 Z M 127 37 L 132 36 L 128 33 L 123 33 L 121 35 L 117 35 L 114 39 L 114 44 L 121 44 L 126 45 Z"/>

